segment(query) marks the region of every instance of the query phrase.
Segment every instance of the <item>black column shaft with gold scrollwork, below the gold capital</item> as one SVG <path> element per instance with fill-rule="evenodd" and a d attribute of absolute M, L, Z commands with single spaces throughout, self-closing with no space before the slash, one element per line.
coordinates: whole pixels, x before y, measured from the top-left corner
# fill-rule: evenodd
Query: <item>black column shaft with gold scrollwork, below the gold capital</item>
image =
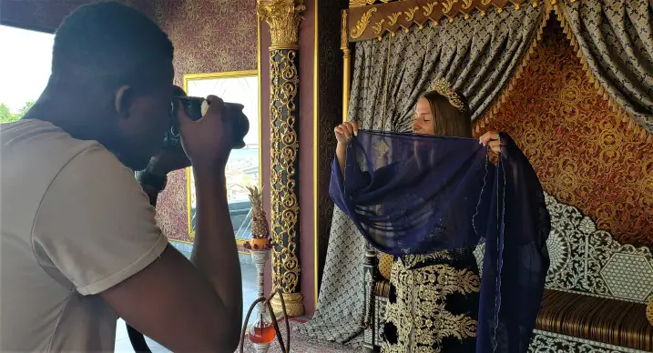
<path fill-rule="evenodd" d="M 295 50 L 270 51 L 270 242 L 272 247 L 272 288 L 281 289 L 288 314 L 299 308 L 288 294 L 300 288 L 299 261 L 299 140 L 297 103 L 300 78 Z M 301 294 L 300 294 L 301 295 Z M 272 301 L 272 307 L 276 302 Z M 298 306 L 301 305 L 298 304 Z M 303 307 L 302 307 L 303 310 Z M 299 314 L 301 315 L 301 314 Z"/>

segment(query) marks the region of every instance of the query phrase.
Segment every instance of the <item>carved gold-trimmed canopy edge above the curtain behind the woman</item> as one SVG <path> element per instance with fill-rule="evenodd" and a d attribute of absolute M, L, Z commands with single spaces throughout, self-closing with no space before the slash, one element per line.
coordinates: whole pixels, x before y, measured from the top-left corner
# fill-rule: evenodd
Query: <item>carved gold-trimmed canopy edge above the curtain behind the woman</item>
<path fill-rule="evenodd" d="M 380 3 L 380 4 L 377 4 Z M 376 39 L 386 32 L 408 31 L 413 25 L 420 28 L 429 23 L 454 21 L 454 17 L 468 18 L 474 11 L 485 15 L 494 6 L 502 11 L 505 6 L 538 6 L 537 0 L 350 0 L 347 36 L 350 42 Z"/>

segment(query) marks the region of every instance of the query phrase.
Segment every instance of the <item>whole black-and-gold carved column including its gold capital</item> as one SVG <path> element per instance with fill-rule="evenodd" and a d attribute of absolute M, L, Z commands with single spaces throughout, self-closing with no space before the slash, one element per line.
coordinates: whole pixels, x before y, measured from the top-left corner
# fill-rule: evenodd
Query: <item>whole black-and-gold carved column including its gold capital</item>
<path fill-rule="evenodd" d="M 303 315 L 299 224 L 299 25 L 302 0 L 258 0 L 270 25 L 270 218 L 272 289 L 281 289 L 288 315 Z M 281 299 L 272 300 L 281 311 Z"/>

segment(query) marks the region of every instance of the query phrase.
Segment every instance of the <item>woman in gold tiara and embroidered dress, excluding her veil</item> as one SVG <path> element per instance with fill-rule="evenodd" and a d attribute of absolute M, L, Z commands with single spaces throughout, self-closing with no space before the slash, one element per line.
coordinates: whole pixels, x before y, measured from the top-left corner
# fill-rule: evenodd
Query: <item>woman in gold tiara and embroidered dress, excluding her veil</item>
<path fill-rule="evenodd" d="M 335 128 L 336 157 L 344 175 L 346 151 L 355 122 Z M 469 108 L 463 95 L 440 82 L 419 98 L 413 132 L 428 136 L 471 137 Z M 499 134 L 479 143 L 500 152 Z M 474 352 L 481 281 L 474 248 L 395 257 L 385 311 L 383 352 Z"/>

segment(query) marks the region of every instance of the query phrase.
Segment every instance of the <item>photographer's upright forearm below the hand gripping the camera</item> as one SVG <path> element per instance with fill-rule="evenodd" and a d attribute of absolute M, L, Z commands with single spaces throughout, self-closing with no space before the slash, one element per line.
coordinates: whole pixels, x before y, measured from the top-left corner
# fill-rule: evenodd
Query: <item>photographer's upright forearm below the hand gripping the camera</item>
<path fill-rule="evenodd" d="M 195 168 L 197 217 L 190 261 L 209 279 L 229 313 L 242 321 L 242 279 L 236 237 L 229 214 L 224 170 Z"/>

